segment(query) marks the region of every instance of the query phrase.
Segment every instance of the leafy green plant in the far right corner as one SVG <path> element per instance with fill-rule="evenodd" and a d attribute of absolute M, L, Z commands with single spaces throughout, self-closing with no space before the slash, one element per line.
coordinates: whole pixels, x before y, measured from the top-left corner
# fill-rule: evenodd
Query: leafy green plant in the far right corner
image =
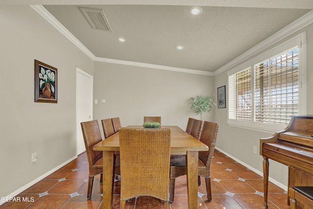
<path fill-rule="evenodd" d="M 191 97 L 190 100 L 193 102 L 190 109 L 193 109 L 196 115 L 200 114 L 201 120 L 202 120 L 202 112 L 212 112 L 213 105 L 216 105 L 216 103 L 213 100 L 214 94 L 202 97 L 202 96 L 196 96 Z"/>

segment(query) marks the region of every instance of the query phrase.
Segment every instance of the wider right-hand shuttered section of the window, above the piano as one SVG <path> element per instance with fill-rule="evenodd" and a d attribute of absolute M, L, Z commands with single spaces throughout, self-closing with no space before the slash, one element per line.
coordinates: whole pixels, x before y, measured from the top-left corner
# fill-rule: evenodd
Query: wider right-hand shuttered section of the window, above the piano
<path fill-rule="evenodd" d="M 254 65 L 254 121 L 289 124 L 298 115 L 298 48 Z"/>

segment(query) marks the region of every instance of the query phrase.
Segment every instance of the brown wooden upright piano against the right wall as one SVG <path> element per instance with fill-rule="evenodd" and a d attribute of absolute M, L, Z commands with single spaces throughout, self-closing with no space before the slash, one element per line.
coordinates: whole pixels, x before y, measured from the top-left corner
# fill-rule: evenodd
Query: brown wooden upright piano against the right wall
<path fill-rule="evenodd" d="M 288 166 L 288 188 L 313 186 L 313 115 L 293 116 L 284 130 L 260 139 L 260 155 L 264 159 L 265 208 L 268 208 L 268 159 Z"/>

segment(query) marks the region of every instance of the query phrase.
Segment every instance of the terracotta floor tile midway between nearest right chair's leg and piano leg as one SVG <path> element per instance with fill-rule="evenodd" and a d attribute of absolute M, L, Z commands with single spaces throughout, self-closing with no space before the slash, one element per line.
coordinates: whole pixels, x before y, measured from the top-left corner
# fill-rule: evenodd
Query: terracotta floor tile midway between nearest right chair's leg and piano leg
<path fill-rule="evenodd" d="M 221 180 L 220 184 L 231 193 L 255 193 L 256 190 L 251 188 L 246 182 L 240 180 Z"/>

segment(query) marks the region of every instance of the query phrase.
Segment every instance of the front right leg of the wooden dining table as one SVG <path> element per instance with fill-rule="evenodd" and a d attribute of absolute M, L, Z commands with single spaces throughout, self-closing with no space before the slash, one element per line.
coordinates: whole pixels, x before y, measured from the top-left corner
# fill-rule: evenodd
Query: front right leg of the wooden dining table
<path fill-rule="evenodd" d="M 188 209 L 198 205 L 198 151 L 187 151 L 187 191 Z"/>

